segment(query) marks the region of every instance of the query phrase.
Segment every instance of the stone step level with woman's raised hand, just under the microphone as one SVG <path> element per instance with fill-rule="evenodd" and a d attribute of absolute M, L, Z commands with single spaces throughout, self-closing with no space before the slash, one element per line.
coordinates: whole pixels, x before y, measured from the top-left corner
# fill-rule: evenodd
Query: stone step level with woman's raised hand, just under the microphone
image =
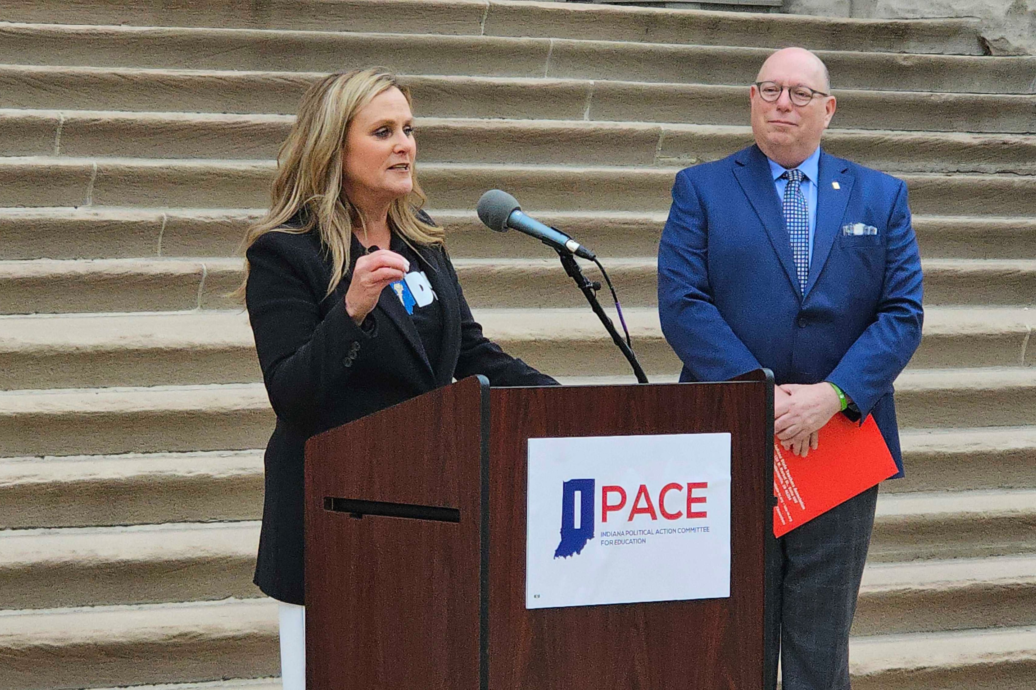
<path fill-rule="evenodd" d="M 514 233 L 530 258 L 455 258 L 473 308 L 579 307 L 585 304 L 546 247 Z M 654 258 L 603 261 L 622 304 L 657 307 Z M 240 258 L 0 260 L 0 314 L 234 309 L 243 278 Z M 923 260 L 924 299 L 931 306 L 1030 306 L 1036 303 L 1036 260 Z M 592 280 L 603 281 L 586 262 Z M 602 298 L 606 296 L 602 293 Z M 1013 363 L 1012 363 L 1013 364 Z"/>

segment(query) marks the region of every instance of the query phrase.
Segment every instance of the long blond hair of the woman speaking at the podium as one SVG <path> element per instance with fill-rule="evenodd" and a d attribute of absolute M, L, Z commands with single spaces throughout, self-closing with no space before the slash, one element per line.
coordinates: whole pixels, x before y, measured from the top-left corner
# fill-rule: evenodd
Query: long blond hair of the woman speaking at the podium
<path fill-rule="evenodd" d="M 342 190 L 345 174 L 345 136 L 356 113 L 375 96 L 391 88 L 399 89 L 410 103 L 410 90 L 382 67 L 367 67 L 324 77 L 303 95 L 298 117 L 277 156 L 277 176 L 270 185 L 270 207 L 249 227 L 241 243 L 248 249 L 267 232 L 307 233 L 316 229 L 332 261 L 327 294 L 334 292 L 349 271 L 349 246 L 353 219 L 363 226 L 358 208 Z M 421 220 L 418 210 L 427 197 L 418 184 L 411 167 L 413 188 L 388 207 L 388 225 L 404 240 L 418 245 L 441 245 L 440 228 Z M 285 224 L 301 221 L 299 227 Z M 244 281 L 234 292 L 243 298 L 249 280 L 244 261 Z"/>

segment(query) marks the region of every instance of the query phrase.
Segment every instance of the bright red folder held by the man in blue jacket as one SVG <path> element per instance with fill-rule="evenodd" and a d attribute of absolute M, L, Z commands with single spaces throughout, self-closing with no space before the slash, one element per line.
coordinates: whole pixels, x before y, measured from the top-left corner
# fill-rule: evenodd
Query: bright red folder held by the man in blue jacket
<path fill-rule="evenodd" d="M 835 414 L 805 458 L 774 437 L 774 536 L 782 537 L 898 471 L 874 419 Z"/>

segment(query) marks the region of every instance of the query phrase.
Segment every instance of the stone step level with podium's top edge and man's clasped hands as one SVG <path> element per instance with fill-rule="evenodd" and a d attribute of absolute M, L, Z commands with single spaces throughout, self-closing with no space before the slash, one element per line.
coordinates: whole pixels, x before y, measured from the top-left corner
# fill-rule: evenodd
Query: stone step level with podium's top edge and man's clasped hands
<path fill-rule="evenodd" d="M 631 374 L 557 377 L 566 384 L 633 382 Z M 675 378 L 651 375 L 654 382 Z M 1033 369 L 908 370 L 896 384 L 903 428 L 1036 425 Z M 261 383 L 5 391 L 0 458 L 248 450 L 265 445 L 274 420 Z"/>

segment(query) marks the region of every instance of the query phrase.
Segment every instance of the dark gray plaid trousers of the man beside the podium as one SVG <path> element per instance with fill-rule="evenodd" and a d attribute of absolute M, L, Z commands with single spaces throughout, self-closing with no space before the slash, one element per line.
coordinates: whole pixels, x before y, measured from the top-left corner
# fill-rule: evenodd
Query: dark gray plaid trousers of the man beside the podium
<path fill-rule="evenodd" d="M 777 540 L 767 621 L 766 687 L 848 690 L 848 630 L 874 525 L 877 487 Z M 771 536 L 771 539 L 773 537 Z"/>

